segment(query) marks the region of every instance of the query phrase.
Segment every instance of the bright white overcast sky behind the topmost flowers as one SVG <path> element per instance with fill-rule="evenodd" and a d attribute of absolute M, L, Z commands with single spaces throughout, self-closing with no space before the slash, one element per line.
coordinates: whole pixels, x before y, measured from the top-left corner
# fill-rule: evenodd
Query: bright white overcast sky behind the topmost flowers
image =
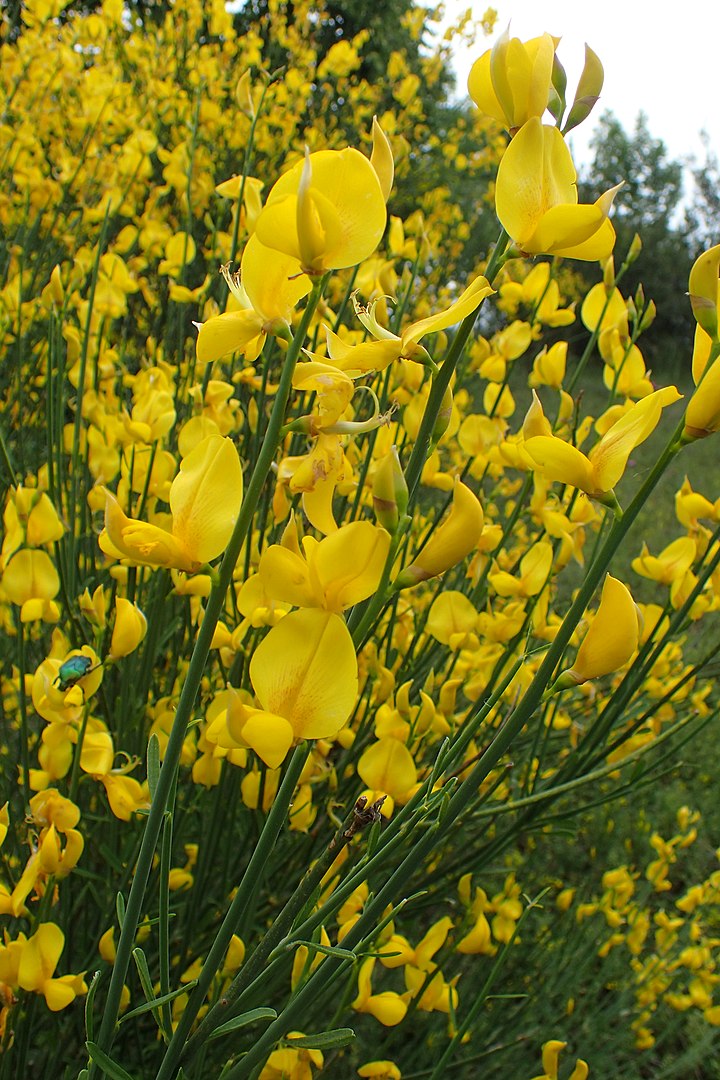
<path fill-rule="evenodd" d="M 568 75 L 572 102 L 582 70 L 585 42 L 604 68 L 600 100 L 589 118 L 569 136 L 575 164 L 590 160 L 588 141 L 596 116 L 611 109 L 631 132 L 642 109 L 650 133 L 662 138 L 673 159 L 694 154 L 705 160 L 699 140 L 704 129 L 720 154 L 720 3 L 717 0 L 446 0 L 448 16 L 468 2 L 478 17 L 487 6 L 498 11 L 497 32 L 511 24 L 511 36 L 527 40 L 544 31 L 562 40 L 558 56 Z M 474 55 L 458 52 L 458 92 L 466 86 Z"/>

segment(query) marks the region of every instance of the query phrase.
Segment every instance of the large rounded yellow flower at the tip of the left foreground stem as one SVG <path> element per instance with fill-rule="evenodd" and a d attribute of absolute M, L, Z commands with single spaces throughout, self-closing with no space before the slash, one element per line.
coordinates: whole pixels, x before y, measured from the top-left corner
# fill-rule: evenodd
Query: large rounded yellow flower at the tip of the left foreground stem
<path fill-rule="evenodd" d="M 371 255 L 385 220 L 378 174 L 358 150 L 305 151 L 271 189 L 256 235 L 298 259 L 304 273 L 318 275 Z"/>

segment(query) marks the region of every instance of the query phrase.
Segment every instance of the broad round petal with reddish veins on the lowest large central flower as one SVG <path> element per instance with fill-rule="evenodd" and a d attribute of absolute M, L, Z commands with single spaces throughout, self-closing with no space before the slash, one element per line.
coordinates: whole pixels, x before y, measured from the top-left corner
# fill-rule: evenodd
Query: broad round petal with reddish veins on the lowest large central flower
<path fill-rule="evenodd" d="M 250 681 L 262 708 L 285 717 L 296 739 L 329 739 L 357 697 L 357 660 L 342 619 L 293 611 L 253 653 Z"/>

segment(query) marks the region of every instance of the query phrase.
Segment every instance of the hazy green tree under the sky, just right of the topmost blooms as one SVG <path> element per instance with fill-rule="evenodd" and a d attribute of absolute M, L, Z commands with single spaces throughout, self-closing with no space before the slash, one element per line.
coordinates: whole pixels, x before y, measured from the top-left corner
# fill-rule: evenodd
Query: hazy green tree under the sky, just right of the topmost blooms
<path fill-rule="evenodd" d="M 643 338 L 643 351 L 660 374 L 684 355 L 692 339 L 690 306 L 678 281 L 687 281 L 696 255 L 682 219 L 683 166 L 673 161 L 662 139 L 653 137 L 640 112 L 628 134 L 612 112 L 604 112 L 590 143 L 594 160 L 581 176 L 582 202 L 624 180 L 613 210 L 617 232 L 615 261 L 624 258 L 636 232 L 642 252 L 625 279 L 628 292 L 642 284 L 646 298 L 657 306 L 657 318 Z"/>

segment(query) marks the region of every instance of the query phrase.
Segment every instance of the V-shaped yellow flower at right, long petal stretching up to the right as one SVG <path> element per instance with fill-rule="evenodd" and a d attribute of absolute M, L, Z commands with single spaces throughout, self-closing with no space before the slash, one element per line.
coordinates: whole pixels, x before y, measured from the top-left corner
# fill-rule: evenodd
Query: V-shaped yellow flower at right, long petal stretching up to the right
<path fill-rule="evenodd" d="M 663 409 L 680 396 L 675 387 L 664 387 L 643 397 L 608 429 L 587 456 L 555 435 L 526 437 L 524 446 L 534 468 L 547 480 L 602 499 L 622 477 L 635 447 L 655 430 Z"/>

